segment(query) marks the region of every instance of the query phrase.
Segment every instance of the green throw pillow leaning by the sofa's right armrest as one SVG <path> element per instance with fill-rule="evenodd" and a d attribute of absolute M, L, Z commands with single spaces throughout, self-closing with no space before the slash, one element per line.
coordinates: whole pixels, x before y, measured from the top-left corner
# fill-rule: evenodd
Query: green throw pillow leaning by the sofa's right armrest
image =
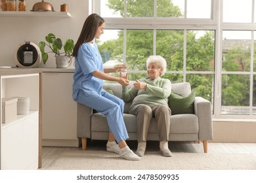
<path fill-rule="evenodd" d="M 169 107 L 171 108 L 171 114 L 194 114 L 195 97 L 195 91 L 191 92 L 186 97 L 172 91 L 171 95 L 169 96 Z"/>

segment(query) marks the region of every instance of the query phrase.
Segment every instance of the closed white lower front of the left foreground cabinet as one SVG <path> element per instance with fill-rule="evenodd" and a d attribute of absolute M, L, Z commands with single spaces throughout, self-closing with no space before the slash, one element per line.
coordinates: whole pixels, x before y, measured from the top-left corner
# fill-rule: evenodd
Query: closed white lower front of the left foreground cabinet
<path fill-rule="evenodd" d="M 38 129 L 38 111 L 3 126 L 1 169 L 38 168 Z"/>

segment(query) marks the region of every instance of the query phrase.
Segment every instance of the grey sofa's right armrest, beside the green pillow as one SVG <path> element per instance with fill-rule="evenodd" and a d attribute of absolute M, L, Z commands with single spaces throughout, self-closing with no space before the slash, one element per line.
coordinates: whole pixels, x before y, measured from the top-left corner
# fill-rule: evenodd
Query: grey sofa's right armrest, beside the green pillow
<path fill-rule="evenodd" d="M 194 111 L 198 116 L 199 140 L 213 140 L 213 121 L 211 119 L 211 103 L 203 97 L 196 97 Z"/>

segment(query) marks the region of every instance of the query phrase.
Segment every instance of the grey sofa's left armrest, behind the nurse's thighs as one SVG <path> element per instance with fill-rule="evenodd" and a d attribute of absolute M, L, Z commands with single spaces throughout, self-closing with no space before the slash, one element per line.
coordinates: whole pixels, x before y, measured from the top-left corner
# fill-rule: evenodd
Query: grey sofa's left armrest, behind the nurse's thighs
<path fill-rule="evenodd" d="M 93 108 L 77 103 L 77 137 L 91 138 L 91 115 Z"/>

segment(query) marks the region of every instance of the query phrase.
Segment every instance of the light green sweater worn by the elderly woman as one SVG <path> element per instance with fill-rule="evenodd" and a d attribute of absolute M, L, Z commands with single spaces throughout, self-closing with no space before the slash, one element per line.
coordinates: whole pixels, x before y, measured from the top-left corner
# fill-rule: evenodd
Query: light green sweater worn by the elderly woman
<path fill-rule="evenodd" d="M 132 86 L 129 90 L 123 86 L 123 101 L 133 101 L 133 105 L 145 104 L 153 107 L 154 105 L 168 105 L 168 97 L 171 94 L 171 81 L 165 78 L 149 77 L 139 80 L 147 84 L 146 90 L 137 90 Z"/>

